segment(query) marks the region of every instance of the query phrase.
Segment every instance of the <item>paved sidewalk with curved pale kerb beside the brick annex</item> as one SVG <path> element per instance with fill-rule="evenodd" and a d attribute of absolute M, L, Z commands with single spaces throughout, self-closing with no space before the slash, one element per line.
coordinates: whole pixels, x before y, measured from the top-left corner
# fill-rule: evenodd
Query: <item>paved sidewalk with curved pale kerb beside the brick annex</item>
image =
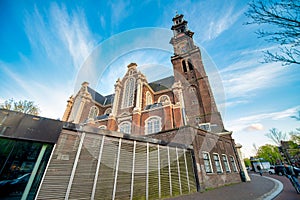
<path fill-rule="evenodd" d="M 179 196 L 172 200 L 261 200 L 274 199 L 283 189 L 280 181 L 270 177 L 249 174 L 251 182 L 242 182 L 230 186 L 217 188 L 202 193 Z"/>

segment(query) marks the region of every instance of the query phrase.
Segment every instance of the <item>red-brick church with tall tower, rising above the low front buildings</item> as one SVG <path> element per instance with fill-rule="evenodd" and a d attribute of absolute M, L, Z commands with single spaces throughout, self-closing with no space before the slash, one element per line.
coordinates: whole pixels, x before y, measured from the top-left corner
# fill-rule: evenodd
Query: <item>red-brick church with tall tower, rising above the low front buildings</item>
<path fill-rule="evenodd" d="M 224 131 L 201 52 L 183 15 L 173 18 L 174 75 L 149 83 L 136 63 L 115 83 L 114 94 L 103 96 L 82 83 L 70 97 L 63 121 L 101 129 L 148 135 L 191 125 L 206 131 Z"/>

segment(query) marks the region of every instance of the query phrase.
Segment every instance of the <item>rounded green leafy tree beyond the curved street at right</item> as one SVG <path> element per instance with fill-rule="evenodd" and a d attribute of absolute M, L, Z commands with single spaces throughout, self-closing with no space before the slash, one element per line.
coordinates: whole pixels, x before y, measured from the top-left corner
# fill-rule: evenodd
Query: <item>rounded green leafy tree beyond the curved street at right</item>
<path fill-rule="evenodd" d="M 271 144 L 266 144 L 258 148 L 256 157 L 263 158 L 271 164 L 275 164 L 277 160 L 282 160 L 278 147 Z"/>

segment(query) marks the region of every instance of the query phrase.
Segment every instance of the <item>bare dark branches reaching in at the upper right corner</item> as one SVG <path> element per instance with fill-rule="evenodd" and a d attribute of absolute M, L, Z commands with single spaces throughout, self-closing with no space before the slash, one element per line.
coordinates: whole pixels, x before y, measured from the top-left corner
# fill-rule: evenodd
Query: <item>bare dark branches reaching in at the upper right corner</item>
<path fill-rule="evenodd" d="M 274 52 L 264 51 L 265 63 L 300 64 L 299 0 L 253 0 L 245 15 L 251 19 L 246 24 L 267 25 L 267 31 L 256 32 L 259 38 L 280 45 Z"/>

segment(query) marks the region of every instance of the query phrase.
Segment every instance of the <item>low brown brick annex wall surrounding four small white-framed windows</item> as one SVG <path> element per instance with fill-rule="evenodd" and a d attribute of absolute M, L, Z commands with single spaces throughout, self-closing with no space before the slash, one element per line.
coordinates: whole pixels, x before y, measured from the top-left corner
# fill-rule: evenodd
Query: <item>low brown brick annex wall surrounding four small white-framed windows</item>
<path fill-rule="evenodd" d="M 208 188 L 216 188 L 224 186 L 226 184 L 241 182 L 241 178 L 238 172 L 233 172 L 230 164 L 229 156 L 233 156 L 238 169 L 238 160 L 234 154 L 232 143 L 233 140 L 220 135 L 208 133 L 200 129 L 185 126 L 179 129 L 173 129 L 170 131 L 162 132 L 159 134 L 152 134 L 148 137 L 165 140 L 168 142 L 175 142 L 189 145 L 191 144 L 195 153 L 195 160 L 198 169 L 198 178 L 201 190 Z M 202 152 L 209 152 L 211 158 L 211 164 L 214 173 L 206 173 L 204 169 L 204 160 Z M 220 163 L 223 168 L 223 173 L 216 173 L 216 166 L 213 161 L 213 153 L 219 154 Z M 228 158 L 228 164 L 231 168 L 231 172 L 225 171 L 225 166 L 221 160 L 221 155 L 225 154 Z M 238 169 L 239 170 L 239 169 Z"/>

